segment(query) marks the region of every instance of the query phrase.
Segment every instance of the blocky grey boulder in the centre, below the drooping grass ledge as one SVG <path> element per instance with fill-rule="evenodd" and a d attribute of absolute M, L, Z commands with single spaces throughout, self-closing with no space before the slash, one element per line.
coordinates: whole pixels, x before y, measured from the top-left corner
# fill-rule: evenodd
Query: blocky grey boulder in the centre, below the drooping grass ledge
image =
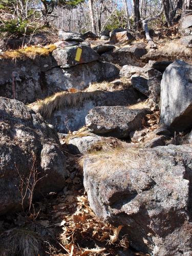
<path fill-rule="evenodd" d="M 126 106 L 96 106 L 86 116 L 86 125 L 95 134 L 129 138 L 130 133 L 145 123 L 148 108 L 129 109 Z"/>

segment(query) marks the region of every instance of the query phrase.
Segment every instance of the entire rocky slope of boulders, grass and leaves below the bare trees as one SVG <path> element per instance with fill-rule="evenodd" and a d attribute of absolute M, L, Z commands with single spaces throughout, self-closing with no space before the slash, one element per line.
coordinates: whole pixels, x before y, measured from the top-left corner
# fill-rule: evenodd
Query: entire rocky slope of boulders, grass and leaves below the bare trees
<path fill-rule="evenodd" d="M 183 23 L 0 53 L 0 255 L 192 255 Z"/>

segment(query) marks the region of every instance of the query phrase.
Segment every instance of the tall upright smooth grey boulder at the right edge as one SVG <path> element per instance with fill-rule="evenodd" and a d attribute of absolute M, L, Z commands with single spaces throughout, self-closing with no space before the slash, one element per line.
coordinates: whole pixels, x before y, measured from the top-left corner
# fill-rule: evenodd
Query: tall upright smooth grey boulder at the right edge
<path fill-rule="evenodd" d="M 192 127 L 192 66 L 177 60 L 170 64 L 161 81 L 160 122 L 175 131 Z"/>

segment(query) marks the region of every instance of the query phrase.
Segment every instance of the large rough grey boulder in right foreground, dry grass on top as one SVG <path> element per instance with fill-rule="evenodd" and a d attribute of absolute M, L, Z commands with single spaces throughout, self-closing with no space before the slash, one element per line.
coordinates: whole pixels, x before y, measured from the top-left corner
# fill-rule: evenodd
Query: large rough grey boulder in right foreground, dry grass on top
<path fill-rule="evenodd" d="M 83 183 L 95 214 L 154 256 L 191 255 L 192 149 L 121 148 L 87 155 Z"/>

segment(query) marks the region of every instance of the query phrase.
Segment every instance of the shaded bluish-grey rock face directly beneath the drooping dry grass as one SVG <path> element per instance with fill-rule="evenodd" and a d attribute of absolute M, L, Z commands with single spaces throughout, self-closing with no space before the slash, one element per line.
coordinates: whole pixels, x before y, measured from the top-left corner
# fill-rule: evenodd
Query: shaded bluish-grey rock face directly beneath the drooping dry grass
<path fill-rule="evenodd" d="M 129 88 L 113 92 L 81 92 L 79 99 L 75 94 L 74 97 L 77 97 L 77 99 L 73 100 L 72 98 L 71 102 L 74 101 L 77 103 L 70 106 L 65 104 L 65 96 L 63 96 L 63 100 L 60 100 L 59 108 L 57 108 L 50 117 L 47 117 L 44 115 L 44 112 L 42 113 L 40 111 L 38 102 L 37 105 L 32 106 L 32 108 L 35 111 L 40 112 L 49 123 L 53 124 L 57 132 L 68 133 L 69 131 L 77 131 L 84 126 L 86 124 L 86 116 L 95 106 L 134 104 L 137 102 L 139 95 L 136 90 Z M 56 101 L 57 99 L 53 101 L 53 104 L 58 105 Z M 45 108 L 49 111 L 49 104 L 45 106 Z"/>

